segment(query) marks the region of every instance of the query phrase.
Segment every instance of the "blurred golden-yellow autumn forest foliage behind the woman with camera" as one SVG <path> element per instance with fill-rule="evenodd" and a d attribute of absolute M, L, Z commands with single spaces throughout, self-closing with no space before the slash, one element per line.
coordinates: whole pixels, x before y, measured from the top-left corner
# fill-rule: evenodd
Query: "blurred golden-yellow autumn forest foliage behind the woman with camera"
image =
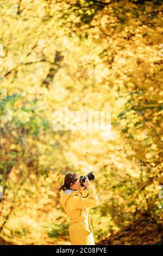
<path fill-rule="evenodd" d="M 95 174 L 96 243 L 141 220 L 142 239 L 129 241 L 130 229 L 111 243 L 163 239 L 162 1 L 0 8 L 0 243 L 70 245 L 58 192 L 67 172 Z M 110 111 L 110 134 L 54 130 L 64 107 Z"/>

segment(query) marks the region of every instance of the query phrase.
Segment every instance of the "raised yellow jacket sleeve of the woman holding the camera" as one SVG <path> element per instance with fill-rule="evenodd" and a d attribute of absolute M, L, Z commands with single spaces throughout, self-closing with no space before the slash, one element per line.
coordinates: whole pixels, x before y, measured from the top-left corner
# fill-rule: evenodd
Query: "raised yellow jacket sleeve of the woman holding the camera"
<path fill-rule="evenodd" d="M 89 193 L 89 194 L 88 194 Z M 88 196 L 87 196 L 88 194 Z M 87 196 L 87 197 L 86 197 Z M 85 198 L 83 198 L 85 197 Z M 82 194 L 73 196 L 73 203 L 76 209 L 93 208 L 99 205 L 99 200 L 94 187 L 83 190 Z"/>

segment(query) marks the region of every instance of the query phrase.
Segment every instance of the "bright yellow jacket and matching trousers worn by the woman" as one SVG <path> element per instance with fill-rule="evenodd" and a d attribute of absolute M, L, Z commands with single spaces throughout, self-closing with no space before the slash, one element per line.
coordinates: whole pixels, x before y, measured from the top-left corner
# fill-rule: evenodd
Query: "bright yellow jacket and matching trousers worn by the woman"
<path fill-rule="evenodd" d="M 83 191 L 76 190 L 70 194 L 61 190 L 60 203 L 64 207 L 67 217 L 71 220 L 68 228 L 71 244 L 95 245 L 91 216 L 89 215 L 89 208 L 99 205 L 95 188 L 89 187 Z"/>

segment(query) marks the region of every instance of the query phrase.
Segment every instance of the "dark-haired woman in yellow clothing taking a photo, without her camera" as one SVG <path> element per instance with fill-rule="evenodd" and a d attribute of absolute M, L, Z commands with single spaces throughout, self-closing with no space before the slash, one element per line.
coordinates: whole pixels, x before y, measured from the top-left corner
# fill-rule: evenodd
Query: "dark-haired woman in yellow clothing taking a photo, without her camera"
<path fill-rule="evenodd" d="M 66 174 L 64 185 L 59 189 L 60 203 L 71 220 L 68 228 L 71 244 L 95 245 L 89 208 L 98 206 L 99 200 L 87 176 L 83 183 L 85 190 L 79 180 L 80 176 L 76 173 Z"/>

